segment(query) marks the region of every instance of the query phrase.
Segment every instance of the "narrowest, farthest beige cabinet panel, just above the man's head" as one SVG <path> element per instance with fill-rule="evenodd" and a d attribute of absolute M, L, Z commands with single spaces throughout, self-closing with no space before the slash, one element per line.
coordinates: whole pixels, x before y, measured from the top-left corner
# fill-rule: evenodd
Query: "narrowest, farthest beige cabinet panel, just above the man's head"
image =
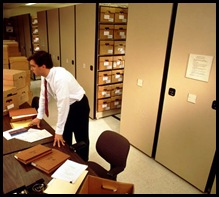
<path fill-rule="evenodd" d="M 40 50 L 48 52 L 47 16 L 46 11 L 37 12 Z"/>

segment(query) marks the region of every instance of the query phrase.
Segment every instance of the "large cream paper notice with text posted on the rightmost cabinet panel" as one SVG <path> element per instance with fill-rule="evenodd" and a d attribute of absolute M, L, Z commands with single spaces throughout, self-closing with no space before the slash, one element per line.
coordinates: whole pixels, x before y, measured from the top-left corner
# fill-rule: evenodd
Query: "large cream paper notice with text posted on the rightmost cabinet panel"
<path fill-rule="evenodd" d="M 208 82 L 213 56 L 190 54 L 186 77 Z"/>

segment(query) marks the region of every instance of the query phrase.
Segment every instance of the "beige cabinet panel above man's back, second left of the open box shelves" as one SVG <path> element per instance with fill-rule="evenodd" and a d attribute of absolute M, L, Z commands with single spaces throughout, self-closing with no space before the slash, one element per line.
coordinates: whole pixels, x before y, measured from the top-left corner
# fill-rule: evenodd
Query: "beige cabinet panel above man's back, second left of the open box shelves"
<path fill-rule="evenodd" d="M 75 76 L 75 6 L 59 8 L 61 66 Z"/>

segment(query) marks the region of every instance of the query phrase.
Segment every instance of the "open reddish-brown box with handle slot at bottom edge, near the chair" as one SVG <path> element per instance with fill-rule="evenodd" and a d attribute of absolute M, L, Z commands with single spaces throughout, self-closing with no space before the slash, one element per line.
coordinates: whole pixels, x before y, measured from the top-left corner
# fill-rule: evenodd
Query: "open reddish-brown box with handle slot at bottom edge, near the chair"
<path fill-rule="evenodd" d="M 134 184 L 87 175 L 78 194 L 134 194 Z"/>

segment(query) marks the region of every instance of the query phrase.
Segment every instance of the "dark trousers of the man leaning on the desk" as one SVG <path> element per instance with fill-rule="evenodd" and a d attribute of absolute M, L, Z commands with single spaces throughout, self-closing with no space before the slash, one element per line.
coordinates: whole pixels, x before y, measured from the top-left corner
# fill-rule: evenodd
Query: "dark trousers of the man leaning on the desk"
<path fill-rule="evenodd" d="M 80 101 L 70 105 L 63 133 L 63 138 L 68 145 L 72 145 L 73 133 L 77 143 L 80 141 L 86 143 L 86 147 L 78 153 L 85 161 L 89 158 L 89 113 L 89 102 L 87 96 L 84 95 Z"/>

